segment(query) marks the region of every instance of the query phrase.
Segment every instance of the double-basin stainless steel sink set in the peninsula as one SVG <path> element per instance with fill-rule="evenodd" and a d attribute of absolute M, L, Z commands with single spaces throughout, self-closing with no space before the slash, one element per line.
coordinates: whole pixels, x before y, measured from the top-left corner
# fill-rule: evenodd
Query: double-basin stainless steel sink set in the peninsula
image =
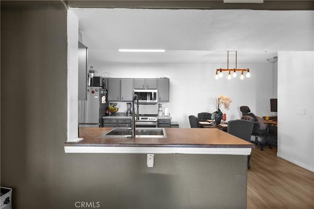
<path fill-rule="evenodd" d="M 125 128 L 115 128 L 100 137 L 131 137 L 131 131 L 127 131 Z M 167 134 L 164 128 L 136 128 L 135 137 L 166 138 Z"/>

